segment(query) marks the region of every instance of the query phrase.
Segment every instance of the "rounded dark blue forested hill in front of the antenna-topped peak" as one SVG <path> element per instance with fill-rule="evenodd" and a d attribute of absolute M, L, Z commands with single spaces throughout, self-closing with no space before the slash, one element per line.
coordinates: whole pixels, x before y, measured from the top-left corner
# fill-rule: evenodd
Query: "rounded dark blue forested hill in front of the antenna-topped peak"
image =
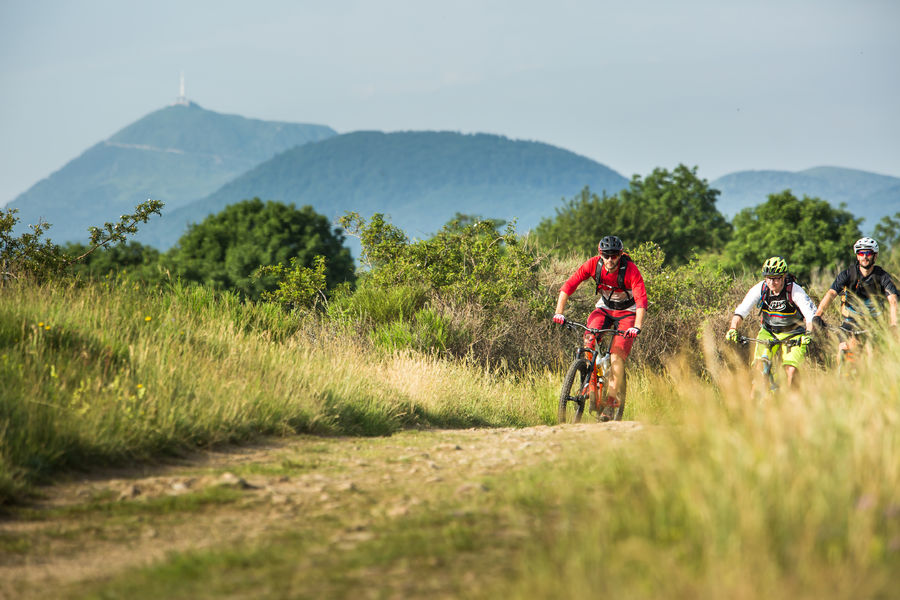
<path fill-rule="evenodd" d="M 628 180 L 538 142 L 451 132 L 362 131 L 288 150 L 210 196 L 164 213 L 138 239 L 167 248 L 188 223 L 259 197 L 309 204 L 331 218 L 382 212 L 410 235 L 433 233 L 457 212 L 517 219 L 525 231 L 585 186 L 615 194 Z"/>

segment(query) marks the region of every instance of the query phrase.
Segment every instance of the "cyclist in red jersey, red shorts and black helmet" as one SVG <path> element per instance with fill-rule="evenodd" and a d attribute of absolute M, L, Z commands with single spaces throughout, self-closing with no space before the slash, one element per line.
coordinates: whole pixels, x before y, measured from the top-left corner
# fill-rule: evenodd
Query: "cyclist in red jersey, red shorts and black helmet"
<path fill-rule="evenodd" d="M 644 315 L 647 312 L 647 289 L 644 278 L 631 258 L 624 253 L 622 240 L 608 235 L 597 245 L 598 256 L 581 265 L 559 290 L 556 314 L 553 322 L 566 322 L 563 311 L 566 302 L 581 282 L 593 278 L 597 286 L 596 309 L 588 317 L 588 327 L 611 329 L 615 327 L 625 335 L 615 336 L 610 352 L 612 354 L 609 376 L 607 404 L 618 406 L 625 399 L 625 361 L 631 353 L 634 338 L 641 332 Z M 591 398 L 593 406 L 594 398 Z"/>

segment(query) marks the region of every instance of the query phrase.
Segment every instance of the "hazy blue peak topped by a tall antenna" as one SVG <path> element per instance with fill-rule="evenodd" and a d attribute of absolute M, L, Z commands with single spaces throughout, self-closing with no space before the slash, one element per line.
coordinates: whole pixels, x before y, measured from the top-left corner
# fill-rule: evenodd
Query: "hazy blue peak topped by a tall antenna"
<path fill-rule="evenodd" d="M 322 125 L 224 115 L 196 104 L 150 113 L 85 151 L 9 204 L 20 226 L 39 219 L 56 242 L 87 239 L 153 198 L 168 213 L 203 197 L 275 154 L 335 132 Z"/>

